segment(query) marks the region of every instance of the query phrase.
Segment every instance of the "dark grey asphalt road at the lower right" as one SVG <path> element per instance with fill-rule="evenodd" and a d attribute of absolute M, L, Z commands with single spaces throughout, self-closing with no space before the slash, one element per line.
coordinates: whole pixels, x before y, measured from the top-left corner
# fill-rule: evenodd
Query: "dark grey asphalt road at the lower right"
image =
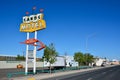
<path fill-rule="evenodd" d="M 99 70 L 59 76 L 44 80 L 120 80 L 120 66 L 102 68 Z"/>

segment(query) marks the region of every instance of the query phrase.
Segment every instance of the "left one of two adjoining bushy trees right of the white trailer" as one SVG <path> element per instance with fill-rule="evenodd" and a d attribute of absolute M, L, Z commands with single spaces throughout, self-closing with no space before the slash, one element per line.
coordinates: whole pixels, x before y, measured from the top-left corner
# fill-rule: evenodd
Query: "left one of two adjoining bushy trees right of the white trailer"
<path fill-rule="evenodd" d="M 84 62 L 84 55 L 83 55 L 83 53 L 82 52 L 76 52 L 74 54 L 74 60 L 79 63 L 79 66 L 83 65 L 83 62 Z"/>

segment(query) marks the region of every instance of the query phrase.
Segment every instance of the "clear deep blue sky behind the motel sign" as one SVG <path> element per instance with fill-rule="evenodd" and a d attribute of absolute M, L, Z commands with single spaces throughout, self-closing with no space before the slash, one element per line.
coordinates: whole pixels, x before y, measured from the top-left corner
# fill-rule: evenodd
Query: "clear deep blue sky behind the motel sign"
<path fill-rule="evenodd" d="M 44 9 L 47 28 L 38 32 L 38 39 L 55 44 L 59 55 L 86 52 L 94 56 L 120 60 L 119 0 L 2 0 L 0 2 L 0 54 L 23 54 L 20 44 L 26 33 L 19 31 L 25 12 Z M 33 37 L 33 33 L 30 37 Z M 37 56 L 43 55 L 43 50 Z"/>

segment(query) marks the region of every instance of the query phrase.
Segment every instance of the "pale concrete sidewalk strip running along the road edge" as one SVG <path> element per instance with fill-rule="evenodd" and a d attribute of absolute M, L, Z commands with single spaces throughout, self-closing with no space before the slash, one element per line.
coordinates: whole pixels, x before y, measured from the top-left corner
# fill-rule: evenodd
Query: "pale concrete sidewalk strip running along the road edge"
<path fill-rule="evenodd" d="M 65 72 L 57 72 L 57 73 L 42 73 L 42 74 L 36 74 L 36 75 L 28 75 L 24 77 L 16 77 L 16 78 L 11 78 L 10 80 L 42 80 L 46 78 L 52 78 L 52 77 L 57 77 L 57 76 L 63 76 L 63 75 L 68 75 L 68 74 L 74 74 L 74 73 L 79 73 L 79 72 L 85 72 L 85 71 L 91 71 L 91 70 L 96 70 L 96 69 L 101 69 L 104 67 L 95 67 L 95 68 L 89 68 L 89 69 L 80 69 L 80 70 L 73 70 L 73 71 L 65 71 Z M 34 79 L 32 79 L 34 78 Z"/>

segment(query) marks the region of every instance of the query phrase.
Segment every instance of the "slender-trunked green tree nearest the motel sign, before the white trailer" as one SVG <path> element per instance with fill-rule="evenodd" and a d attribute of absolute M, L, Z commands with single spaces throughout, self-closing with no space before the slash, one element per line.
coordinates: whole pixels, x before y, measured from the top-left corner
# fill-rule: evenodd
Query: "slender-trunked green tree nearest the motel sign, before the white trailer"
<path fill-rule="evenodd" d="M 58 53 L 55 50 L 55 47 L 53 43 L 51 43 L 49 46 L 46 46 L 44 49 L 44 60 L 50 63 L 50 73 L 51 73 L 51 64 L 53 64 L 56 61 L 56 56 Z"/>

